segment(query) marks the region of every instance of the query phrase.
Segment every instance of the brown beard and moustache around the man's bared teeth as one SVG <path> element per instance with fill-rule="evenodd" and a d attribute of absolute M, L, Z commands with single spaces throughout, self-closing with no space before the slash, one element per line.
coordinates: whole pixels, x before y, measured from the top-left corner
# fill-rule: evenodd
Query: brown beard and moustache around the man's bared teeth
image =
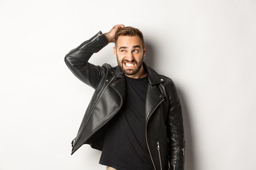
<path fill-rule="evenodd" d="M 133 59 L 131 61 L 128 61 L 128 60 L 125 60 L 123 58 L 122 61 L 120 61 L 120 62 L 118 61 L 118 67 L 123 71 L 124 74 L 126 74 L 126 75 L 134 75 L 134 74 L 136 74 L 140 70 L 140 68 L 141 68 L 141 66 L 143 64 L 143 58 L 144 58 L 144 56 L 142 56 L 142 59 L 140 61 L 137 61 L 135 59 Z M 117 60 L 118 60 L 118 55 L 117 55 Z M 136 64 L 136 68 L 124 68 L 123 65 L 124 65 L 125 62 L 135 63 Z"/>

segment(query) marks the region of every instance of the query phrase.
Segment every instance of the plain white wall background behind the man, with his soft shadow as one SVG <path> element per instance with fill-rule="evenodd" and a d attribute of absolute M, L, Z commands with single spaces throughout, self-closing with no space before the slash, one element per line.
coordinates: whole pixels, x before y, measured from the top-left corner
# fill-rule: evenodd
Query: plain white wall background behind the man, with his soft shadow
<path fill-rule="evenodd" d="M 64 56 L 115 24 L 182 102 L 185 170 L 255 170 L 256 0 L 1 0 L 0 170 L 105 170 L 71 141 L 94 92 Z M 117 65 L 113 43 L 89 60 Z"/>

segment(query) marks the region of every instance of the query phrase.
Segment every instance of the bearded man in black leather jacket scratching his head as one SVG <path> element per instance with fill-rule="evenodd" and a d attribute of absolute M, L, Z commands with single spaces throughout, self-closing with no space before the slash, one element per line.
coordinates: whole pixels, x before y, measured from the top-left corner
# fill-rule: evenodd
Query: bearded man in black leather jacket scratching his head
<path fill-rule="evenodd" d="M 88 62 L 111 42 L 118 66 Z M 184 170 L 185 140 L 176 86 L 144 63 L 145 53 L 138 29 L 115 25 L 65 56 L 74 75 L 95 89 L 71 154 L 89 144 L 102 151 L 99 163 L 107 170 Z"/>

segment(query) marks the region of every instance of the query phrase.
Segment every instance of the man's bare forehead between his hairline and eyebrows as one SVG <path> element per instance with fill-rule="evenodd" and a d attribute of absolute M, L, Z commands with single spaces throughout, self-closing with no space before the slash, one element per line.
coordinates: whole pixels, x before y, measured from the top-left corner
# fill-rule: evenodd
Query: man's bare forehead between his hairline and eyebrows
<path fill-rule="evenodd" d="M 142 41 L 138 35 L 130 36 L 130 35 L 120 35 L 118 37 L 118 41 L 116 42 L 116 46 L 124 46 L 124 47 L 132 47 L 135 45 L 140 45 L 142 47 Z"/>

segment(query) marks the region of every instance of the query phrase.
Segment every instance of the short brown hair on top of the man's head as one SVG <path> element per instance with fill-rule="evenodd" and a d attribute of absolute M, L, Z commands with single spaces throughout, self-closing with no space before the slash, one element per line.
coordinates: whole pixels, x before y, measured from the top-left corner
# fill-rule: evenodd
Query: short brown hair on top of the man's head
<path fill-rule="evenodd" d="M 142 45 L 144 46 L 143 34 L 137 28 L 134 28 L 134 27 L 123 27 L 123 28 L 118 29 L 118 31 L 116 32 L 116 35 L 115 35 L 115 45 L 116 45 L 116 42 L 118 41 L 118 37 L 120 35 L 128 35 L 128 36 L 138 35 L 139 38 L 142 41 Z"/>

